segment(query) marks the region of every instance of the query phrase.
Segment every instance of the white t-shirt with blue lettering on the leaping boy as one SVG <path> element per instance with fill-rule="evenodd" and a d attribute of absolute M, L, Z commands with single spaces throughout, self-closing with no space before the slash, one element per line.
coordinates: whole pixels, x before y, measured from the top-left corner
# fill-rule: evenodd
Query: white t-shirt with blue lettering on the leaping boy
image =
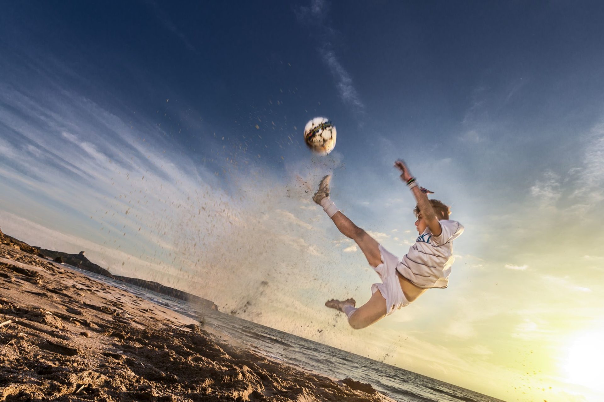
<path fill-rule="evenodd" d="M 448 286 L 451 265 L 455 261 L 452 242 L 463 233 L 463 226 L 457 221 L 439 223 L 440 236 L 432 236 L 426 228 L 396 267 L 403 277 L 423 289 Z"/>

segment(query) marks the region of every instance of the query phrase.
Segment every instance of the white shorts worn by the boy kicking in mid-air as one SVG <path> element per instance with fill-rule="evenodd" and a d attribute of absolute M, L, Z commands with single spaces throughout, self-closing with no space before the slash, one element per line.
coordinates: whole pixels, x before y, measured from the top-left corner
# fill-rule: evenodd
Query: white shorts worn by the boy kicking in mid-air
<path fill-rule="evenodd" d="M 394 310 L 400 309 L 409 305 L 409 302 L 403 294 L 403 289 L 400 288 L 399 277 L 396 274 L 396 266 L 399 265 L 399 257 L 390 253 L 382 245 L 378 245 L 382 263 L 375 268 L 382 283 L 374 283 L 371 285 L 371 294 L 374 294 L 378 289 L 382 296 L 386 299 L 386 315 L 391 315 Z"/>

